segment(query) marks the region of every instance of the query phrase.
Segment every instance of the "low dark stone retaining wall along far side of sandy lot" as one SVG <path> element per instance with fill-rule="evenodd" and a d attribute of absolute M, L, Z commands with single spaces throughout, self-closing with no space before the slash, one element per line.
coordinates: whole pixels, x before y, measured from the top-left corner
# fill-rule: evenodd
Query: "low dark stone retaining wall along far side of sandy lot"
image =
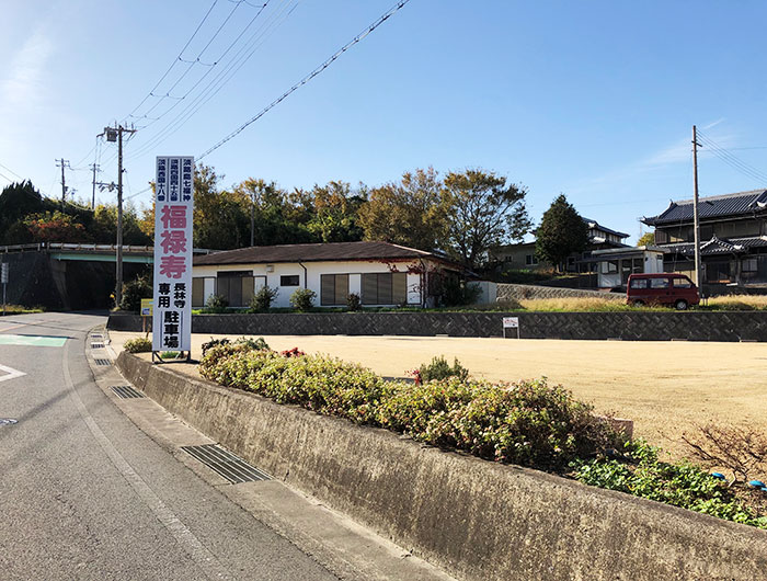
<path fill-rule="evenodd" d="M 196 315 L 207 334 L 502 337 L 503 317 L 519 318 L 522 339 L 625 341 L 767 341 L 767 312 L 308 312 Z M 108 328 L 140 331 L 136 315 L 110 316 Z M 512 333 L 516 337 L 516 333 Z M 510 335 L 511 337 L 511 335 Z"/>

